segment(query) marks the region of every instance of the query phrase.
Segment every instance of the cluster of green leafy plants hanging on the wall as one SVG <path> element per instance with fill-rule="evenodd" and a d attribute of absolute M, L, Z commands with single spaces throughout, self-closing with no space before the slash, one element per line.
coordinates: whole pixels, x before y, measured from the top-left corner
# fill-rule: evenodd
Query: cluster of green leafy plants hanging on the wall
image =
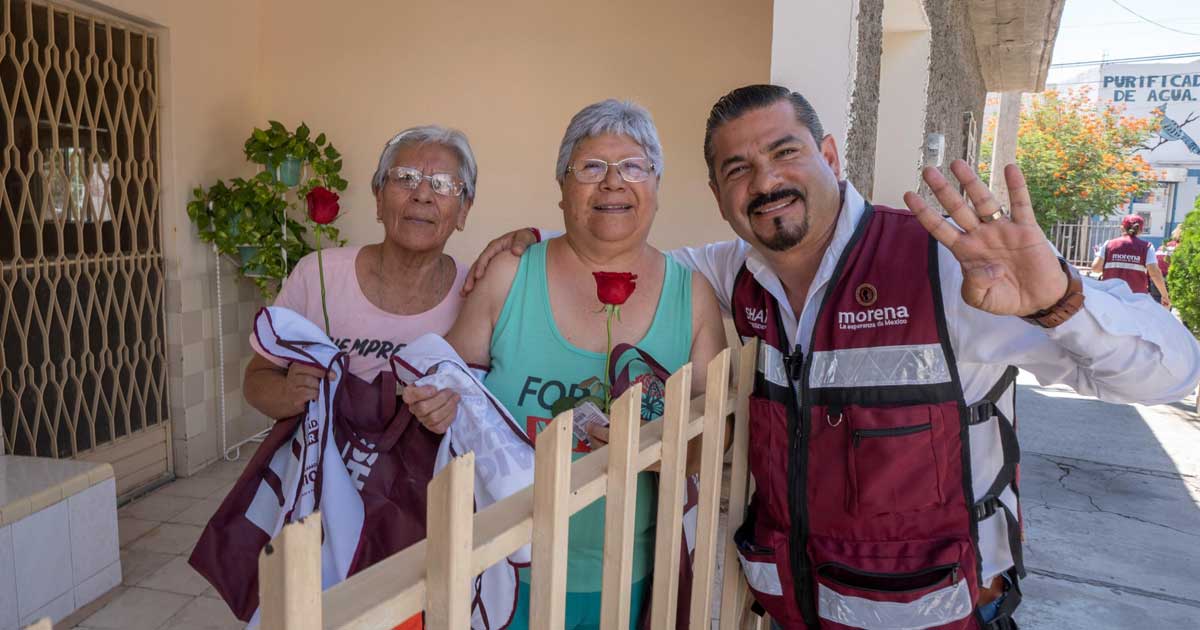
<path fill-rule="evenodd" d="M 304 124 L 288 132 L 272 120 L 265 130 L 254 128 L 244 149 L 246 157 L 264 169 L 252 178 L 193 190 L 187 216 L 200 240 L 233 259 L 239 275 L 251 278 L 263 299 L 270 300 L 295 264 L 313 251 L 307 238 L 311 233 L 319 232 L 312 235 L 323 242 L 344 244 L 334 226 L 298 221 L 292 216 L 296 212 L 289 210 L 317 186 L 344 191 L 347 182 L 340 175 L 341 154 L 324 133 L 310 138 Z M 294 167 L 288 166 L 292 158 L 298 161 Z M 301 180 L 305 164 L 310 176 Z"/>

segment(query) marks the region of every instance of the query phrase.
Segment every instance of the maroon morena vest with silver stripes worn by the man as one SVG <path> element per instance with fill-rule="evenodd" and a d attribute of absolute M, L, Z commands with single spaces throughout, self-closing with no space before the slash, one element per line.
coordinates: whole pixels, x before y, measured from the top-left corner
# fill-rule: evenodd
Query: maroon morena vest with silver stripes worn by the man
<path fill-rule="evenodd" d="M 757 337 L 750 397 L 756 491 L 736 541 L 757 602 L 782 628 L 986 628 L 977 523 L 1003 511 L 1015 570 L 1015 431 L 989 396 L 964 401 L 937 244 L 911 212 L 868 206 L 829 281 L 808 349 L 746 266 L 734 323 Z M 976 503 L 968 427 L 998 418 L 1004 466 Z M 1001 611 L 1020 601 L 1013 588 Z M 990 624 L 988 624 L 990 625 Z"/>

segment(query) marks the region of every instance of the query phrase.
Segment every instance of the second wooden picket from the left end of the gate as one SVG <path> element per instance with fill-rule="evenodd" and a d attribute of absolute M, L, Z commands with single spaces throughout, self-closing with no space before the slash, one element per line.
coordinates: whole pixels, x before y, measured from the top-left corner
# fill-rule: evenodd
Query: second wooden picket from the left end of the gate
<path fill-rule="evenodd" d="M 425 517 L 425 628 L 430 630 L 470 628 L 474 487 L 474 452 L 455 457 L 430 481 Z"/>

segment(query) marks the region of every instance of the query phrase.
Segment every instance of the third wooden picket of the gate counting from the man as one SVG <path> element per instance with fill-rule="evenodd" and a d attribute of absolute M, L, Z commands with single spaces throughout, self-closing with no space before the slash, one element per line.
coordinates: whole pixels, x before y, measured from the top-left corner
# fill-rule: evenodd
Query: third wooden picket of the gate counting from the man
<path fill-rule="evenodd" d="M 691 407 L 691 364 L 667 379 L 662 410 L 662 469 L 659 473 L 658 528 L 654 535 L 654 595 L 650 628 L 674 628 L 679 594 L 679 545 L 683 538 L 684 482 L 688 479 L 688 442 L 684 422 Z"/>

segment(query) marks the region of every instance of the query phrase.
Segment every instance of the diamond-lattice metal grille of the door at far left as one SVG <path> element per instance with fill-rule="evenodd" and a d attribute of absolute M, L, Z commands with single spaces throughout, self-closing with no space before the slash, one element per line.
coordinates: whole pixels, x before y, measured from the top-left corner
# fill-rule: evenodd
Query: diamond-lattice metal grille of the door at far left
<path fill-rule="evenodd" d="M 167 419 L 155 36 L 0 0 L 0 434 L 74 457 Z"/>

